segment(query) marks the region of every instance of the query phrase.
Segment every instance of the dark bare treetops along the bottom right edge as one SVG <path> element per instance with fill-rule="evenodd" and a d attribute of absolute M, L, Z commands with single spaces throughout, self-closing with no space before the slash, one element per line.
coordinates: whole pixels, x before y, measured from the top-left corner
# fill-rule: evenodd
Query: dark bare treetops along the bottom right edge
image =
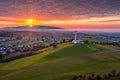
<path fill-rule="evenodd" d="M 113 69 L 104 74 L 75 75 L 70 80 L 115 80 L 120 77 L 120 70 Z"/>

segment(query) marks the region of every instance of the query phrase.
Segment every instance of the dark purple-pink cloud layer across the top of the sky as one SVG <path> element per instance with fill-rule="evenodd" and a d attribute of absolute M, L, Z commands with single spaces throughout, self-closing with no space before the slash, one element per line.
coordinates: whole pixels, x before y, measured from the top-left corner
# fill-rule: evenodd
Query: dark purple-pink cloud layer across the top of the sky
<path fill-rule="evenodd" d="M 0 16 L 70 19 L 119 15 L 120 0 L 0 0 Z"/>

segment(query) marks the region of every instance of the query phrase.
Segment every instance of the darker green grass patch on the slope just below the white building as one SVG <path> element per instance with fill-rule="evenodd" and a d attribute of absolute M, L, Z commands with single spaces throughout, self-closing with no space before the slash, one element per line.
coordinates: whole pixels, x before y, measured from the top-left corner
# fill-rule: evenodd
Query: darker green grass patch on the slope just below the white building
<path fill-rule="evenodd" d="M 105 48 L 104 48 L 105 49 Z M 103 50 L 101 47 L 97 48 L 96 45 L 73 45 L 72 47 L 67 47 L 61 51 L 54 52 L 44 57 L 44 61 L 50 61 L 55 59 L 66 59 L 69 57 L 85 55 L 96 50 Z"/>

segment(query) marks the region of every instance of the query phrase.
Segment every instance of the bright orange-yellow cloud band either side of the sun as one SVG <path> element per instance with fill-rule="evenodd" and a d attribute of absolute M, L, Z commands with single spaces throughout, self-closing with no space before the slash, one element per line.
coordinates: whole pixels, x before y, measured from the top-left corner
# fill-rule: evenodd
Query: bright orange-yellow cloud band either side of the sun
<path fill-rule="evenodd" d="M 0 26 L 18 26 L 25 25 L 28 19 L 19 19 L 11 17 L 0 17 Z M 65 28 L 90 28 L 93 26 L 120 26 L 120 16 L 106 16 L 106 17 L 93 17 L 88 19 L 77 20 L 35 20 L 36 25 L 52 25 L 52 26 L 67 26 Z"/>

